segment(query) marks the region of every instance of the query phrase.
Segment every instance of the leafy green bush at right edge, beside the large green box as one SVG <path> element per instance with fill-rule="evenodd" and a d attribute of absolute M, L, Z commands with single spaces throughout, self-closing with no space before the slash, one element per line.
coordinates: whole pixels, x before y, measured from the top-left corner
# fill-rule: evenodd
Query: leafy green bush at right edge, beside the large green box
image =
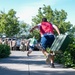
<path fill-rule="evenodd" d="M 75 38 L 70 35 L 70 43 L 62 54 L 56 54 L 55 61 L 64 64 L 65 67 L 75 67 Z"/>

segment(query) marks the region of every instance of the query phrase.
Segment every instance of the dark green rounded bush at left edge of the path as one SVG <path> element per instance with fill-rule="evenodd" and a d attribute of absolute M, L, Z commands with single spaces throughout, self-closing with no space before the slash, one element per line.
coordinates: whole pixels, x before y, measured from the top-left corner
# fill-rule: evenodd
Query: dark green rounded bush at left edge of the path
<path fill-rule="evenodd" d="M 0 58 L 5 58 L 10 55 L 10 47 L 5 44 L 0 44 Z"/>

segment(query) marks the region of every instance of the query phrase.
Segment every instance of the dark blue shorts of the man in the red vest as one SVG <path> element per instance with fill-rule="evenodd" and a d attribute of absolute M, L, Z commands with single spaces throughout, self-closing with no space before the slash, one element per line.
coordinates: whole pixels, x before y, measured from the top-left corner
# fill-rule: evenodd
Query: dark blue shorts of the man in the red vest
<path fill-rule="evenodd" d="M 54 35 L 45 35 L 43 37 L 41 37 L 41 46 L 44 50 L 46 50 L 47 47 L 51 47 L 53 41 L 54 41 L 55 37 Z"/>

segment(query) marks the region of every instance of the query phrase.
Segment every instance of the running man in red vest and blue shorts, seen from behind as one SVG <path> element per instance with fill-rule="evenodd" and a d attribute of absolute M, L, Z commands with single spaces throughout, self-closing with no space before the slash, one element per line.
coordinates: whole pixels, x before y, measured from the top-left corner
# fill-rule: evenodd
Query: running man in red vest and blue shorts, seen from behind
<path fill-rule="evenodd" d="M 42 18 L 42 22 L 36 26 L 34 26 L 30 32 L 32 32 L 34 29 L 39 29 L 40 30 L 40 35 L 41 35 L 41 41 L 40 44 L 41 46 L 39 47 L 42 53 L 47 57 L 46 62 L 49 63 L 51 62 L 51 67 L 54 68 L 54 55 L 52 54 L 53 51 L 50 53 L 47 52 L 46 48 L 51 47 L 55 37 L 54 37 L 54 30 L 60 35 L 60 31 L 56 25 L 51 24 L 50 22 L 47 21 L 47 18 Z"/>

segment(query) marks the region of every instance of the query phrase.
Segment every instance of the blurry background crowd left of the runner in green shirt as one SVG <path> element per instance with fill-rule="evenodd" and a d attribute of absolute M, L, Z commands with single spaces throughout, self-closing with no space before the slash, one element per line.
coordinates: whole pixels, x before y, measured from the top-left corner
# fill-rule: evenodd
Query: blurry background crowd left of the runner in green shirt
<path fill-rule="evenodd" d="M 28 50 L 28 40 L 27 39 L 15 39 L 15 38 L 0 38 L 0 44 L 6 44 L 10 46 L 11 50 Z"/>

